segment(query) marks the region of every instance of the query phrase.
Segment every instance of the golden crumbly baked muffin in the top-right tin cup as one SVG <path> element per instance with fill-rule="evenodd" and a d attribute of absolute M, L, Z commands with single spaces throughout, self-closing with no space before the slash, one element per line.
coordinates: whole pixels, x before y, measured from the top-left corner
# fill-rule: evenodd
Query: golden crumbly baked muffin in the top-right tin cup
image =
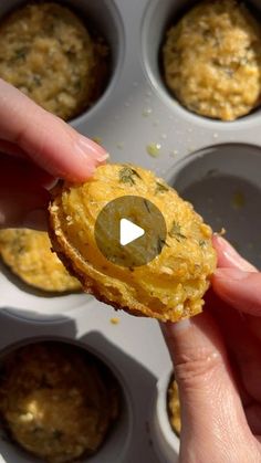
<path fill-rule="evenodd" d="M 189 111 L 244 116 L 261 102 L 261 25 L 241 1 L 202 1 L 167 31 L 163 72 Z"/>

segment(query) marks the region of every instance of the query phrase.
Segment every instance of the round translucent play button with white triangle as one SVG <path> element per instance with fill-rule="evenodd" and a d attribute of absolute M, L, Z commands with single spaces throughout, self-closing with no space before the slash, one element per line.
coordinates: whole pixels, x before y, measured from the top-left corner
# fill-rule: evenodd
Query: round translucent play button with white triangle
<path fill-rule="evenodd" d="M 167 229 L 161 212 L 152 201 L 124 196 L 100 211 L 94 233 L 97 248 L 107 261 L 132 270 L 161 253 Z"/>

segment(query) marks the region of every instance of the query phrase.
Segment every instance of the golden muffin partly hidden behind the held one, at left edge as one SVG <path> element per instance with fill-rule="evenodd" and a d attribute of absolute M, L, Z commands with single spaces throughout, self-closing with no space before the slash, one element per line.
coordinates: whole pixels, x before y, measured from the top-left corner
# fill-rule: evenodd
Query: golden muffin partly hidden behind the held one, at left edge
<path fill-rule="evenodd" d="M 46 292 L 81 291 L 79 280 L 71 276 L 58 255 L 51 251 L 46 232 L 0 230 L 0 256 L 24 283 Z"/>

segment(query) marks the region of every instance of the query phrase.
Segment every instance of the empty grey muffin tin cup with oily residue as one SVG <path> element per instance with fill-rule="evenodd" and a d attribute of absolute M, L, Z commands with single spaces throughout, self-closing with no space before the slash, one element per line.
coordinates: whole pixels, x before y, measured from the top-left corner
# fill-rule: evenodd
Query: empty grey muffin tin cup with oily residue
<path fill-rule="evenodd" d="M 218 145 L 177 162 L 169 182 L 250 262 L 261 267 L 261 149 Z"/>

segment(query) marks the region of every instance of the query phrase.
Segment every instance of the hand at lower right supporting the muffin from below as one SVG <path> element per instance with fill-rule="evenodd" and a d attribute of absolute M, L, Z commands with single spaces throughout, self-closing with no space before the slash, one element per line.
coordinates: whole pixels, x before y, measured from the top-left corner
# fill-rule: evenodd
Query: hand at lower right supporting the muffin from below
<path fill-rule="evenodd" d="M 181 404 L 180 463 L 261 462 L 261 273 L 215 236 L 202 314 L 166 324 Z"/>

